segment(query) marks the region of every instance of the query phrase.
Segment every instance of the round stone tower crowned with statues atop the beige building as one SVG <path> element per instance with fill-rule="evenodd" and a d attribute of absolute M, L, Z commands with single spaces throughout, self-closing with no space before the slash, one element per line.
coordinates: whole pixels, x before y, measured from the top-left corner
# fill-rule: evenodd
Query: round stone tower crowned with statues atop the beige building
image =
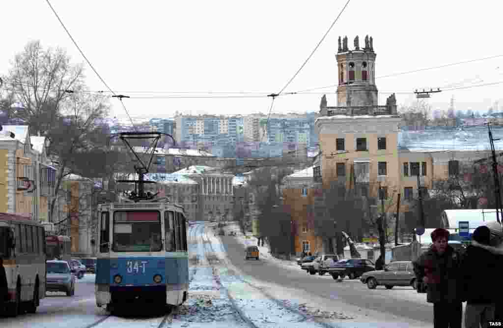
<path fill-rule="evenodd" d="M 343 45 L 339 37 L 337 57 L 339 86 L 337 87 L 337 106 L 373 106 L 377 105 L 377 87 L 375 85 L 375 60 L 372 37 L 365 37 L 363 47 L 359 37 L 354 40 L 354 49 L 348 48 L 348 37 Z"/>

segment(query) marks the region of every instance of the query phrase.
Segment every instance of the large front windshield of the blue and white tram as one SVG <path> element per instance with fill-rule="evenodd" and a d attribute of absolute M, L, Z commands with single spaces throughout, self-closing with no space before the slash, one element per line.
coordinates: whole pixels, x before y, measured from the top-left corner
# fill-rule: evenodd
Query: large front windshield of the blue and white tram
<path fill-rule="evenodd" d="M 159 211 L 114 213 L 115 252 L 145 252 L 162 249 Z"/>

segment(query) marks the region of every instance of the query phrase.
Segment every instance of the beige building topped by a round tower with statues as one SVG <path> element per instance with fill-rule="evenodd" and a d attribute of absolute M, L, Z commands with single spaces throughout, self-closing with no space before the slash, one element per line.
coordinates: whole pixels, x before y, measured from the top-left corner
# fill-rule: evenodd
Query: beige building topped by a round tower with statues
<path fill-rule="evenodd" d="M 336 58 L 338 104 L 328 106 L 323 96 L 315 123 L 321 151 L 315 169 L 321 173 L 324 188 L 339 181 L 361 196 L 377 198 L 381 186 L 388 217 L 396 211 L 394 204 L 400 193 L 402 219 L 417 196 L 418 186 L 430 189 L 434 179 L 457 174 L 460 163 L 487 157 L 487 150 L 459 150 L 452 140 L 441 149 L 428 146 L 428 142 L 423 148 L 400 147 L 401 118 L 394 94 L 385 105 L 377 104 L 372 44 L 354 50 L 340 47 Z M 435 142 L 430 141 L 430 145 Z M 380 206 L 374 210 L 381 211 Z"/>

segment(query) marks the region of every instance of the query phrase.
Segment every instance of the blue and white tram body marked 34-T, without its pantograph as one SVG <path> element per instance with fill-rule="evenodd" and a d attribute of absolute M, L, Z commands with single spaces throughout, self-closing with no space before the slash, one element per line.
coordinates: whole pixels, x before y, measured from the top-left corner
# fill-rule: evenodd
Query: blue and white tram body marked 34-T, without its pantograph
<path fill-rule="evenodd" d="M 167 202 L 100 205 L 96 304 L 180 305 L 188 298 L 184 209 Z"/>

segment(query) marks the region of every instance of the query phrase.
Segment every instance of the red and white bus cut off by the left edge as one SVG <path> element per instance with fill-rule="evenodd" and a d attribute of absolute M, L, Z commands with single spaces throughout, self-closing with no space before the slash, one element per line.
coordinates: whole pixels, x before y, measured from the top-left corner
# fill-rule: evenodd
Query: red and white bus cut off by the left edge
<path fill-rule="evenodd" d="M 35 313 L 46 289 L 44 227 L 24 216 L 0 213 L 0 256 L 8 284 L 5 314 Z"/>

